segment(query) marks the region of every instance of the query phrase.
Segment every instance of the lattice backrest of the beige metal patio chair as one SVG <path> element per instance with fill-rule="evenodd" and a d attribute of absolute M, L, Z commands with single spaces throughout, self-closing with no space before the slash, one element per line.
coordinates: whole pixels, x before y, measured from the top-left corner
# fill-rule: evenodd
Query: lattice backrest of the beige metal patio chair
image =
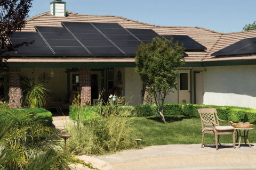
<path fill-rule="evenodd" d="M 212 126 L 211 122 L 214 125 L 219 125 L 217 110 L 215 108 L 198 108 L 197 111 L 200 115 L 203 129 L 204 126 Z"/>

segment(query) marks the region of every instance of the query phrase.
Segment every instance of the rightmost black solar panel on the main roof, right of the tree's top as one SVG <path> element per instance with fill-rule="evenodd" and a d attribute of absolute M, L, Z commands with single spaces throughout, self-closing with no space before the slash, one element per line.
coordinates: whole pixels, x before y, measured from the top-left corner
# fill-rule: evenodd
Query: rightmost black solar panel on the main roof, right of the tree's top
<path fill-rule="evenodd" d="M 179 44 L 183 43 L 183 47 L 185 50 L 205 50 L 206 47 L 202 44 L 199 44 L 194 39 L 190 38 L 189 36 L 183 35 L 163 35 L 164 38 L 170 40 L 171 37 L 173 38 L 173 44 L 178 41 Z"/>

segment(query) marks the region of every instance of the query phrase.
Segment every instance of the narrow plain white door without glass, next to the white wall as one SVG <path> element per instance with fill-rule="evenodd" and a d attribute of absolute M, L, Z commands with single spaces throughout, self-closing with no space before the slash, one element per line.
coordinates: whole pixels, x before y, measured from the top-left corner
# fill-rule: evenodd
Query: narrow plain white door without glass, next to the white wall
<path fill-rule="evenodd" d="M 195 71 L 195 85 L 196 85 L 196 104 L 203 104 L 204 88 L 203 88 L 203 71 Z"/>

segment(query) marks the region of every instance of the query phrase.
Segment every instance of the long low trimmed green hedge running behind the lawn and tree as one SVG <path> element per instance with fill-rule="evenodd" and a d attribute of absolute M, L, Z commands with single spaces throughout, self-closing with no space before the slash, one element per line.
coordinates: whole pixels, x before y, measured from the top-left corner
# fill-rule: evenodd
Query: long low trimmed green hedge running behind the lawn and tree
<path fill-rule="evenodd" d="M 81 106 L 70 106 L 69 116 L 74 120 L 74 115 L 77 114 L 78 107 Z M 109 109 L 125 109 L 129 113 L 133 113 L 135 116 L 157 116 L 156 105 L 137 105 L 137 106 L 101 106 L 99 112 L 98 106 L 84 106 L 85 111 L 93 111 L 102 113 L 103 109 L 110 107 Z M 256 123 L 256 109 L 246 107 L 235 107 L 235 106 L 215 106 L 215 105 L 199 105 L 199 104 L 177 104 L 167 103 L 164 104 L 164 115 L 185 115 L 188 117 L 199 117 L 197 112 L 198 108 L 216 108 L 218 117 L 221 120 L 230 120 L 235 123 L 237 122 L 251 122 Z M 105 109 L 106 111 L 106 109 Z"/>

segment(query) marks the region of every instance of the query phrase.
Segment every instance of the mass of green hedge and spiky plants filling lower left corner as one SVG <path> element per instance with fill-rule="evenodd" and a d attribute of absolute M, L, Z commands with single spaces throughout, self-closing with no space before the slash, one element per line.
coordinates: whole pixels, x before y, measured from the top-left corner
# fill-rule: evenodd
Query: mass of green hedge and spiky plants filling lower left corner
<path fill-rule="evenodd" d="M 0 112 L 0 129 L 7 130 L 0 140 L 5 155 L 1 166 L 5 169 L 31 169 L 30 166 L 36 169 L 67 168 L 58 132 L 38 121 L 35 112 L 26 110 L 29 109 L 7 109 Z M 45 110 L 37 109 L 36 112 L 39 114 L 40 111 Z M 6 129 L 10 123 L 12 125 Z"/>

